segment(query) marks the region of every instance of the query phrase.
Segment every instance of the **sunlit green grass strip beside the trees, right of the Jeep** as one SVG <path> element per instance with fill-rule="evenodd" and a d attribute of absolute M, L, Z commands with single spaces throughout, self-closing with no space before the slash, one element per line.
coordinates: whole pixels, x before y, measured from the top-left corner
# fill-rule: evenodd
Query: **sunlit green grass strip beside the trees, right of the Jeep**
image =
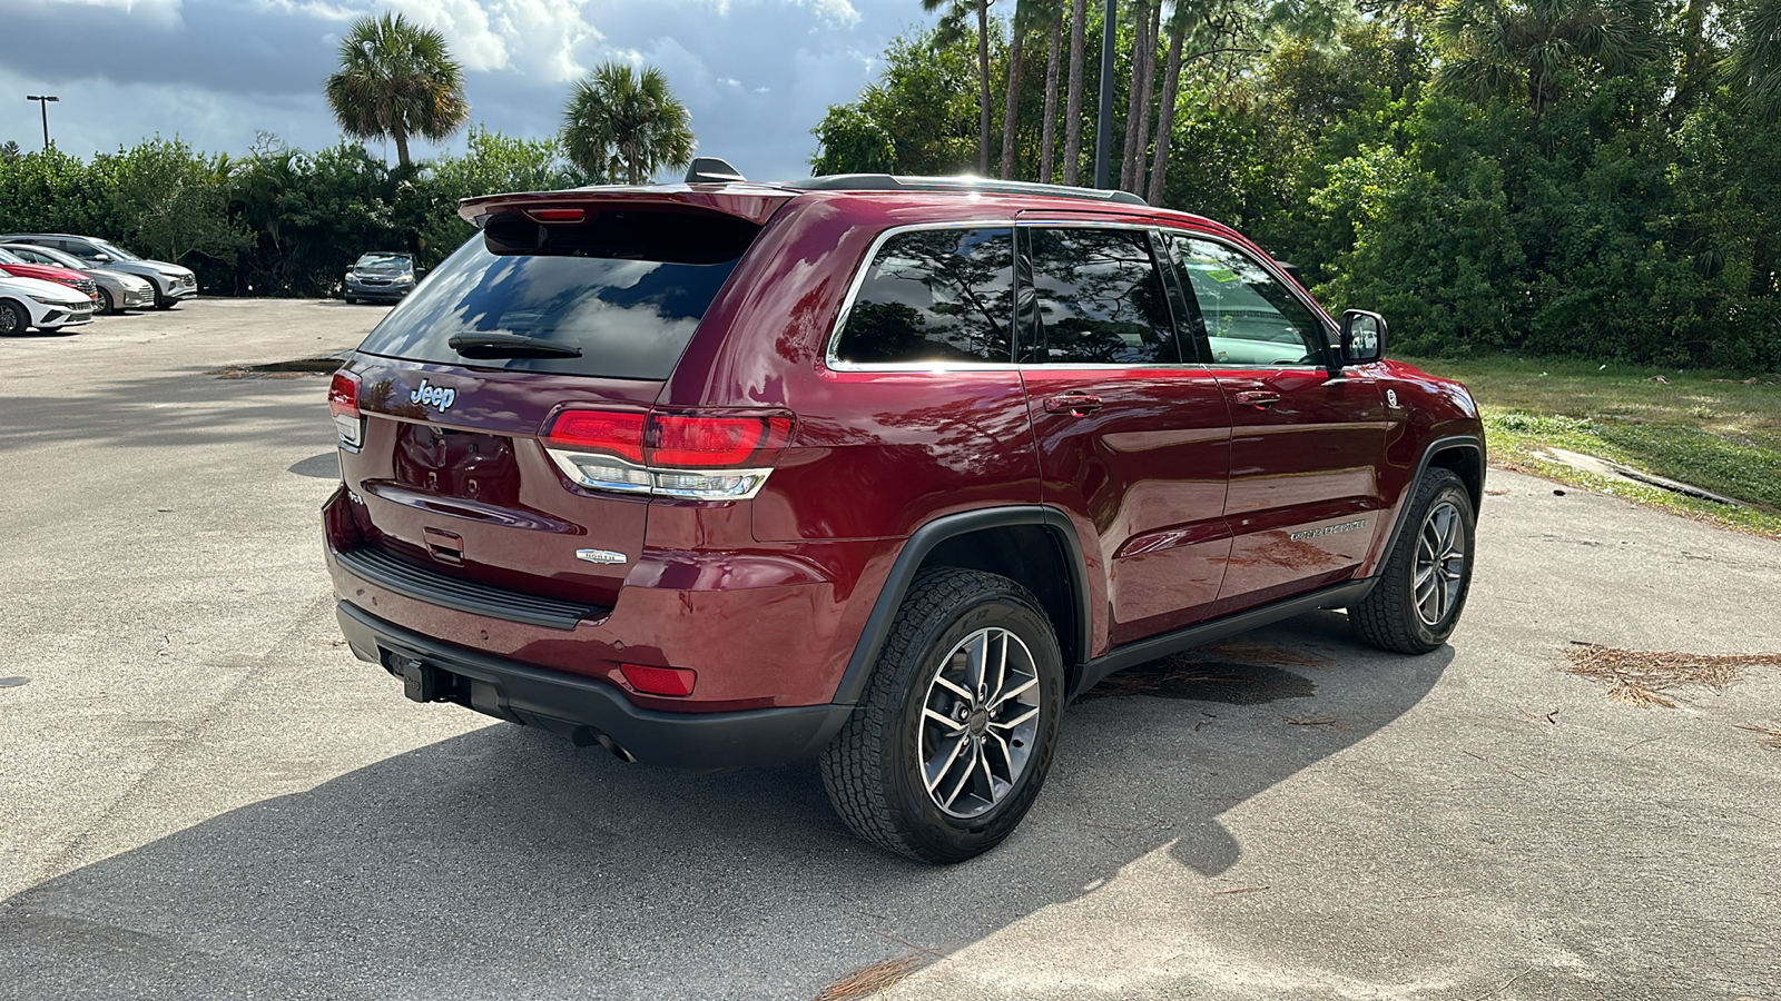
<path fill-rule="evenodd" d="M 1496 465 L 1781 538 L 1781 374 L 1507 356 L 1412 363 L 1471 388 Z M 1578 472 L 1541 458 L 1549 447 L 1692 483 L 1745 506 Z"/>

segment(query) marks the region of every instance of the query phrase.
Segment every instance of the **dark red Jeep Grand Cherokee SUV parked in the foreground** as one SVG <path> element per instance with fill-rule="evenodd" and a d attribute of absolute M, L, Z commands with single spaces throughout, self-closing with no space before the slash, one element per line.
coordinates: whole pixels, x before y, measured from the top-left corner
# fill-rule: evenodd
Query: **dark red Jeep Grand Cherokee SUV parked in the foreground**
<path fill-rule="evenodd" d="M 1377 315 L 1124 194 L 703 178 L 465 201 L 335 376 L 338 618 L 410 698 L 817 755 L 857 832 L 953 862 L 1111 671 L 1318 607 L 1452 632 L 1478 411 Z"/>

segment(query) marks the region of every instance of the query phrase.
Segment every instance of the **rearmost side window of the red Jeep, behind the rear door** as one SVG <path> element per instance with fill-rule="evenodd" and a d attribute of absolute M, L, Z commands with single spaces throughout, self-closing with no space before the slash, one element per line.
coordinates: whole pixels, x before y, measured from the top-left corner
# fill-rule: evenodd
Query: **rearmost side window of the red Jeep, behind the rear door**
<path fill-rule="evenodd" d="M 1006 363 L 1012 321 L 1013 230 L 898 233 L 867 265 L 835 358 Z"/>

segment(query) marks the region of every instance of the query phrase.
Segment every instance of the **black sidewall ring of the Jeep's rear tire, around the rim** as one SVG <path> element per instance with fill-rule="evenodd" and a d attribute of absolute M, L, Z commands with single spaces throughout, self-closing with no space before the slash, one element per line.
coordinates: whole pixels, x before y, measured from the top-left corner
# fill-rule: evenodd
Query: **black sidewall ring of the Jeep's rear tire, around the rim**
<path fill-rule="evenodd" d="M 923 782 L 919 721 L 942 659 L 964 638 L 990 627 L 1013 632 L 1033 655 L 1040 688 L 1033 736 L 1038 746 L 1001 803 L 974 818 L 955 818 L 940 810 Z M 883 748 L 892 807 L 901 814 L 905 830 L 914 832 L 933 855 L 969 859 L 1008 837 L 1045 782 L 1063 718 L 1063 663 L 1044 613 L 1012 593 L 987 595 L 949 616 L 935 616 L 924 623 L 921 648 L 921 657 L 912 657 L 898 679 L 896 734 Z"/>

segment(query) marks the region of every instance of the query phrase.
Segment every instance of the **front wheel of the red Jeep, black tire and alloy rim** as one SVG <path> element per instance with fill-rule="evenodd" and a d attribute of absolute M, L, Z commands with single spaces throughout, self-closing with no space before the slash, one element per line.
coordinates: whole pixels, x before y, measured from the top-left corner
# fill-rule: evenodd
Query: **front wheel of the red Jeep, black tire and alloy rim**
<path fill-rule="evenodd" d="M 1435 524 L 1443 518 L 1450 520 Z M 1361 639 L 1398 654 L 1427 654 L 1446 643 L 1466 611 L 1476 525 L 1471 493 L 1459 476 L 1439 467 L 1423 474 L 1378 584 L 1348 609 Z M 1427 586 L 1419 590 L 1425 570 Z"/>

